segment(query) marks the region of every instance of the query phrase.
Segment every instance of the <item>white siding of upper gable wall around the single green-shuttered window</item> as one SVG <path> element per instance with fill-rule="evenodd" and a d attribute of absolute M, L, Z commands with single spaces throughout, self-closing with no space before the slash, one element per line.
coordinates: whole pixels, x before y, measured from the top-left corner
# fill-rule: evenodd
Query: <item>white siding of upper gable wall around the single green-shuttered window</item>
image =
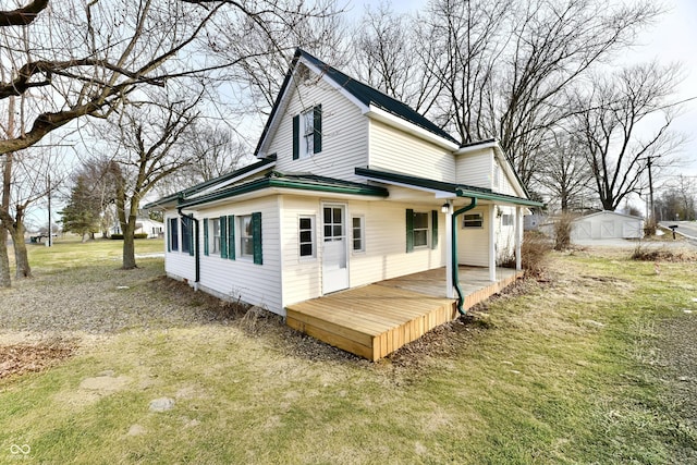
<path fill-rule="evenodd" d="M 321 79 L 303 83 L 292 93 L 268 149 L 277 154 L 276 170 L 357 181 L 354 169 L 368 164 L 368 119 Z M 322 151 L 293 160 L 293 117 L 317 105 L 322 106 Z"/>

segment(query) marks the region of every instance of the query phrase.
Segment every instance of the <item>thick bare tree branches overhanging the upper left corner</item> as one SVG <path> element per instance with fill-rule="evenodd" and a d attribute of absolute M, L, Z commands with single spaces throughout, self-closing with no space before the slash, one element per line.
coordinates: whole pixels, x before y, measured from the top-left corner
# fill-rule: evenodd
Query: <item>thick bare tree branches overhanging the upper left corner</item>
<path fill-rule="evenodd" d="M 3 32 L 0 100 L 25 96 L 27 126 L 0 140 L 0 155 L 29 147 L 81 117 L 106 117 L 139 86 L 163 86 L 200 71 L 195 60 L 176 58 L 197 45 L 220 8 L 152 0 L 47 3 L 32 2 L 29 12 L 20 13 L 30 24 Z"/>

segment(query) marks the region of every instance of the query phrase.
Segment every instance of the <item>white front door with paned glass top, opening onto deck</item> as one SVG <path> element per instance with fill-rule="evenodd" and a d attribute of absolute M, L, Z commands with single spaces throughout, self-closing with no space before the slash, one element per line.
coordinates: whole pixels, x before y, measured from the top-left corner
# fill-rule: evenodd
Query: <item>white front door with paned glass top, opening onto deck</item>
<path fill-rule="evenodd" d="M 322 223 L 322 293 L 328 294 L 348 287 L 346 207 L 325 205 Z"/>

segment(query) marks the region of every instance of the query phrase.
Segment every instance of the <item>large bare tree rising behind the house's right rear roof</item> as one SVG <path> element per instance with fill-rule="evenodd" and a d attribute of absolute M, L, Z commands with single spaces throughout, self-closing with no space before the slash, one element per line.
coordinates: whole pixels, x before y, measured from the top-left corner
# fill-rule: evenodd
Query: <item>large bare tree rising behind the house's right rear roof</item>
<path fill-rule="evenodd" d="M 550 130 L 576 110 L 565 90 L 659 13 L 644 0 L 433 0 L 418 30 L 442 86 L 429 113 L 464 143 L 498 138 L 528 185 Z"/>

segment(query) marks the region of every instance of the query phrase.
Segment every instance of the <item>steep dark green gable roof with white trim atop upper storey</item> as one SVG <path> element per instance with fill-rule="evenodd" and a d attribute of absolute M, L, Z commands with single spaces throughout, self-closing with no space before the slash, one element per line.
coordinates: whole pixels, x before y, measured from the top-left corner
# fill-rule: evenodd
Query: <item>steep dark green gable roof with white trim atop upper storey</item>
<path fill-rule="evenodd" d="M 342 73 L 335 68 L 330 66 L 318 58 L 298 48 L 295 50 L 291 66 L 285 73 L 285 78 L 283 79 L 283 84 L 281 85 L 279 95 L 276 99 L 276 102 L 273 103 L 273 108 L 271 109 L 269 119 L 264 126 L 264 132 L 261 133 L 261 137 L 259 137 L 259 143 L 257 144 L 254 155 L 259 156 L 261 147 L 267 136 L 269 135 L 274 119 L 277 118 L 280 108 L 284 102 L 289 86 L 291 85 L 293 79 L 293 74 L 295 73 L 295 70 L 299 62 L 304 62 L 305 64 L 308 64 L 309 68 L 319 71 L 322 77 L 329 79 L 335 87 L 344 91 L 351 100 L 360 103 L 363 107 L 365 107 L 365 109 L 368 109 L 370 107 L 378 108 L 407 123 L 414 124 L 415 126 L 418 126 L 421 130 L 427 131 L 428 133 L 441 137 L 449 143 L 460 146 L 460 142 L 453 138 L 448 132 L 443 131 L 432 121 L 418 113 L 406 103 L 393 97 L 390 97 L 389 95 L 376 89 L 375 87 L 354 79 L 353 77 Z"/>

